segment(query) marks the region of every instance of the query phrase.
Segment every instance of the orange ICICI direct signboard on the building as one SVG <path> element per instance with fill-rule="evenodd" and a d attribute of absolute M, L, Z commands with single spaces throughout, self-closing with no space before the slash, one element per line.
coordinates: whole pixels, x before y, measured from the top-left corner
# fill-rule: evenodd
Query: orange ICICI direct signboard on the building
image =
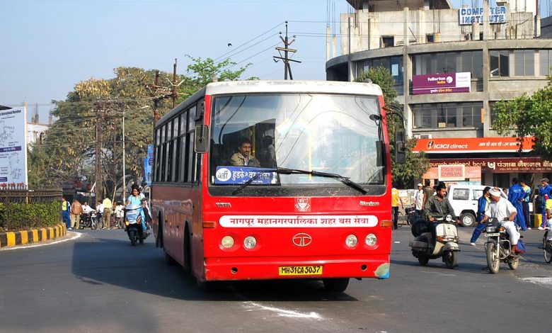
<path fill-rule="evenodd" d="M 468 153 L 468 152 L 522 152 L 533 150 L 533 137 L 443 137 L 418 139 L 413 152 Z"/>

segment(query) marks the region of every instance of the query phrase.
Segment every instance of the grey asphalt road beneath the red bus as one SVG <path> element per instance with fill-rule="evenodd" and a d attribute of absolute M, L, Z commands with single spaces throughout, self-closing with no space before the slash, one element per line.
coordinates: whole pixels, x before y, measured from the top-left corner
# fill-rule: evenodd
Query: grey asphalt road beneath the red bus
<path fill-rule="evenodd" d="M 410 230 L 393 232 L 391 278 L 352 280 L 345 293 L 318 281 L 222 283 L 202 293 L 166 266 L 154 239 L 131 247 L 121 230 L 0 251 L 1 332 L 549 332 L 552 266 L 537 249 L 517 271 L 484 271 L 483 247 L 461 228 L 459 266 L 426 267 Z M 483 244 L 483 237 L 479 243 Z"/>

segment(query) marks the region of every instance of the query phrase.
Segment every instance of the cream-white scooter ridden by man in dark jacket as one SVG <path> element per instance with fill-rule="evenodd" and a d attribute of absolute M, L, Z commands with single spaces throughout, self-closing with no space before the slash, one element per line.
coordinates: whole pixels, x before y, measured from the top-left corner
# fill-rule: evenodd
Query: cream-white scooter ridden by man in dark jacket
<path fill-rule="evenodd" d="M 458 265 L 458 245 L 459 237 L 456 225 L 452 223 L 452 215 L 447 215 L 444 218 L 435 218 L 435 239 L 427 221 L 418 220 L 413 225 L 413 234 L 415 239 L 410 242 L 409 246 L 412 249 L 412 255 L 418 258 L 420 265 L 425 266 L 430 259 L 442 257 L 444 264 L 448 269 L 454 269 Z M 425 223 L 420 227 L 420 223 Z M 434 222 L 435 223 L 435 222 Z M 414 232 L 417 229 L 417 232 Z"/>

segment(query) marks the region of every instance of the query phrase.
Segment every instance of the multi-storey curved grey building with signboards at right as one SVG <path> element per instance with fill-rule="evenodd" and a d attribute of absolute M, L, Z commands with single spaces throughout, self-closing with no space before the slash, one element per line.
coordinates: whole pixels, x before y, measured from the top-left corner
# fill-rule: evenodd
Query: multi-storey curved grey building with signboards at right
<path fill-rule="evenodd" d="M 461 9 L 448 0 L 347 2 L 355 11 L 341 14 L 341 55 L 330 55 L 328 33 L 326 77 L 354 81 L 370 67 L 389 69 L 407 135 L 430 159 L 420 178 L 502 187 L 513 177 L 534 185 L 551 178 L 552 164 L 530 157 L 531 140 L 493 130 L 497 101 L 548 84 L 552 40 L 541 38 L 535 1 Z"/>

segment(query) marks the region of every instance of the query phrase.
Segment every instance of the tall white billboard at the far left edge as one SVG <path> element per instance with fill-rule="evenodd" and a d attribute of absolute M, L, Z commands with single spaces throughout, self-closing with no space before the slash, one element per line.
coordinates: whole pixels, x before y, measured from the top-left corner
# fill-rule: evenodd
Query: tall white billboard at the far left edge
<path fill-rule="evenodd" d="M 0 111 L 0 188 L 27 186 L 26 107 Z"/>

